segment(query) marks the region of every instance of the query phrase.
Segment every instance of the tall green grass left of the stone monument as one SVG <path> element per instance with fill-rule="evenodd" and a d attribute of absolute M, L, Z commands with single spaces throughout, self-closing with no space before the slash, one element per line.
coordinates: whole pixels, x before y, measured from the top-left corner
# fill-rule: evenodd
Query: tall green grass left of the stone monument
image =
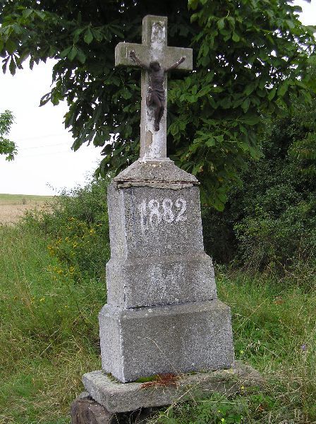
<path fill-rule="evenodd" d="M 100 367 L 105 285 L 59 276 L 46 240 L 0 227 L 0 423 L 68 423 L 81 375 Z"/>

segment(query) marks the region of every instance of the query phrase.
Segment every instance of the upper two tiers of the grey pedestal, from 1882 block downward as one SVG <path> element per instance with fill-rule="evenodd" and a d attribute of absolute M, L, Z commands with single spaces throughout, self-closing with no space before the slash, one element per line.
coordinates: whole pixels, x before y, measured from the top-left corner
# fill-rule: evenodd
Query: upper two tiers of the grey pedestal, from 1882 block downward
<path fill-rule="evenodd" d="M 145 165 L 150 167 L 150 165 Z M 141 307 L 217 298 L 197 187 L 109 187 L 108 302 Z"/>

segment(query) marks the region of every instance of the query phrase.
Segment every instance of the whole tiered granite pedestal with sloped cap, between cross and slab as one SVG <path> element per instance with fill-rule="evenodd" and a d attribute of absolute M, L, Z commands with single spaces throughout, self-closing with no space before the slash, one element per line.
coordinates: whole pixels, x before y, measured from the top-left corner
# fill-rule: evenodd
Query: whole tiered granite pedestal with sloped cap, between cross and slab
<path fill-rule="evenodd" d="M 139 161 L 109 187 L 108 304 L 102 368 L 121 382 L 233 366 L 229 307 L 205 254 L 197 180 L 169 161 Z"/>

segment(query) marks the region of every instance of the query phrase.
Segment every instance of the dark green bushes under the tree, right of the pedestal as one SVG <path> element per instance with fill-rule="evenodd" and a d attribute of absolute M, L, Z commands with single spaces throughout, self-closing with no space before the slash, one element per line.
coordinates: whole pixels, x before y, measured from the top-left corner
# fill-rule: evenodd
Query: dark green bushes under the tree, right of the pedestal
<path fill-rule="evenodd" d="M 263 157 L 249 163 L 225 211 L 202 208 L 205 247 L 219 263 L 277 271 L 299 262 L 316 266 L 315 113 L 316 100 L 267 122 Z"/>

